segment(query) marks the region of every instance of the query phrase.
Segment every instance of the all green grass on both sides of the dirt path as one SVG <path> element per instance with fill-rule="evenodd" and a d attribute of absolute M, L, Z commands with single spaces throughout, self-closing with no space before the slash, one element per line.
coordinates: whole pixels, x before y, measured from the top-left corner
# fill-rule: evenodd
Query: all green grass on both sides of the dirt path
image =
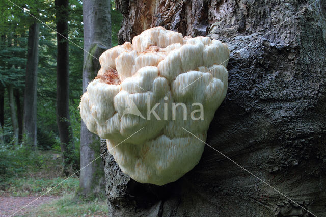
<path fill-rule="evenodd" d="M 76 196 L 76 191 L 79 188 L 79 178 L 71 177 L 65 180 L 65 177 L 61 177 L 62 158 L 60 152 L 37 151 L 22 156 L 25 153 L 24 150 L 18 151 L 18 157 L 17 155 L 10 156 L 10 159 L 14 161 L 11 168 L 12 175 L 6 178 L 5 181 L 1 182 L 0 180 L 1 196 L 41 196 L 59 184 L 45 194 L 45 196 L 60 196 L 59 199 L 35 208 L 26 207 L 24 216 L 107 215 L 108 206 L 103 200 L 104 196 L 80 198 L 80 196 Z M 29 162 L 26 162 L 26 160 L 29 160 Z M 7 161 L 4 161 L 4 165 L 7 165 Z M 24 168 L 18 170 L 20 167 Z"/>

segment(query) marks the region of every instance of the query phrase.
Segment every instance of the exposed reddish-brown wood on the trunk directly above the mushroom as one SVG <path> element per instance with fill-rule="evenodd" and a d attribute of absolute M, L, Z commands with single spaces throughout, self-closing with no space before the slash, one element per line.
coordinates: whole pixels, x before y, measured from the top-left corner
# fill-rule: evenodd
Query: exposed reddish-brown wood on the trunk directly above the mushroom
<path fill-rule="evenodd" d="M 209 11 L 218 10 L 219 1 L 128 1 L 117 0 L 123 14 L 123 23 L 118 33 L 119 44 L 131 39 L 153 26 L 164 26 L 178 31 L 183 36 L 205 36 L 214 22 Z M 216 13 L 215 13 L 216 14 Z M 216 20 L 216 18 L 215 18 Z"/>

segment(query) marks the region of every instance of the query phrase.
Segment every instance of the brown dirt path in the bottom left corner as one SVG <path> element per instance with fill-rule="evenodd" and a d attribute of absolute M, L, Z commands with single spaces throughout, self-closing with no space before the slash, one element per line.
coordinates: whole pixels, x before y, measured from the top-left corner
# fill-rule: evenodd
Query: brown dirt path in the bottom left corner
<path fill-rule="evenodd" d="M 0 216 L 10 216 L 22 207 L 26 206 L 33 200 L 38 198 L 38 196 L 28 196 L 28 197 L 2 197 L 0 196 Z M 33 203 L 31 203 L 26 208 L 20 210 L 15 215 L 21 215 L 26 210 L 31 209 L 33 207 L 39 206 L 43 203 L 49 203 L 52 200 L 58 199 L 57 196 L 43 196 Z"/>

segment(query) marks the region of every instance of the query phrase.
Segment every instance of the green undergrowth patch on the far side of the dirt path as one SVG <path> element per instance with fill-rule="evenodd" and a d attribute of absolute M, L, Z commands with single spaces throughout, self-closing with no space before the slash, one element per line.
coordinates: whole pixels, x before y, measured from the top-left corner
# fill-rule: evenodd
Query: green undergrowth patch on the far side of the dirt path
<path fill-rule="evenodd" d="M 13 175 L 6 178 L 5 181 L 0 182 L 0 195 L 6 196 L 39 196 L 47 192 L 46 195 L 61 196 L 67 193 L 75 192 L 79 187 L 79 179 L 77 177 L 71 177 L 65 180 L 65 177 L 61 176 L 62 171 L 62 158 L 60 152 L 55 151 L 35 151 L 22 156 L 23 150 L 18 150 L 13 159 L 17 162 L 15 167 L 23 167 L 23 170 L 18 171 L 12 169 Z M 32 155 L 32 157 L 30 156 Z M 16 159 L 18 158 L 18 159 Z M 23 158 L 23 159 L 20 159 Z M 26 162 L 26 158 L 33 158 Z M 21 162 L 22 161 L 22 162 Z M 24 165 L 24 163 L 26 165 Z"/>

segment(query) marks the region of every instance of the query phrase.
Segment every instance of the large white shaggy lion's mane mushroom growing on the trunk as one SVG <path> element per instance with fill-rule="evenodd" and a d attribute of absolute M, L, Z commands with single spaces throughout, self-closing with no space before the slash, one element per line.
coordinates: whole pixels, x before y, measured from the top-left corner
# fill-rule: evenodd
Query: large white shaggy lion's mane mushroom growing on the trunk
<path fill-rule="evenodd" d="M 132 44 L 100 56 L 101 69 L 80 102 L 82 119 L 107 139 L 108 150 L 131 178 L 173 182 L 201 158 L 209 123 L 226 95 L 229 54 L 226 44 L 208 37 L 182 37 L 162 27 L 145 30 Z M 189 115 L 201 106 L 203 114 Z M 134 107 L 138 113 L 126 112 Z"/>

